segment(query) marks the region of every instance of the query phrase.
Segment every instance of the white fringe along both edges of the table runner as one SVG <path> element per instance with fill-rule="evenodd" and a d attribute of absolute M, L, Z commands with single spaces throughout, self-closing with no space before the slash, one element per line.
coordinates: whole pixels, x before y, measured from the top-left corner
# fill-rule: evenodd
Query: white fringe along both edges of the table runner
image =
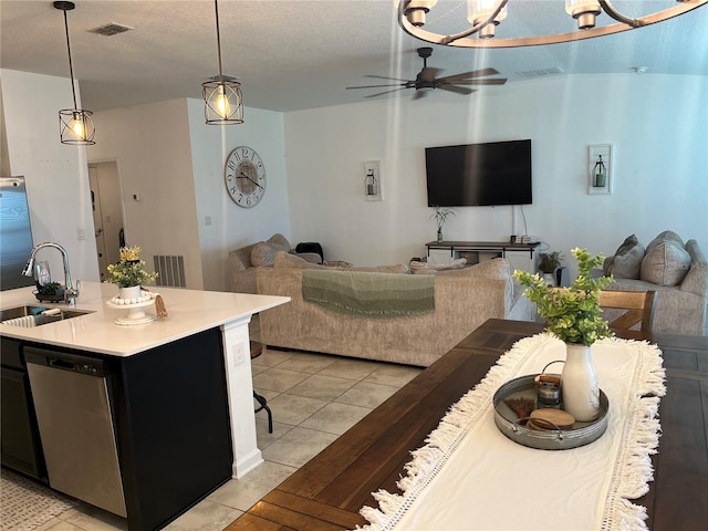
<path fill-rule="evenodd" d="M 385 489 L 373 493 L 377 508 L 363 507 L 360 513 L 369 522 L 357 530 L 387 531 L 415 501 L 417 494 L 435 478 L 447 458 L 459 446 L 470 427 L 488 407 L 492 407 L 491 397 L 514 374 L 517 366 L 530 353 L 530 346 L 542 346 L 545 342 L 558 341 L 551 334 L 541 333 L 518 341 L 512 348 L 499 358 L 487 376 L 471 391 L 465 394 L 431 431 L 425 445 L 410 452 L 413 459 L 405 466 L 406 476 L 396 486 L 402 494 Z M 643 352 L 634 374 L 635 393 L 629 395 L 634 400 L 635 414 L 627 421 L 622 435 L 613 470 L 612 488 L 608 502 L 603 514 L 603 530 L 611 529 L 647 529 L 646 508 L 636 506 L 628 499 L 639 498 L 648 491 L 648 481 L 654 479 L 650 456 L 656 454 L 660 436 L 658 405 L 666 395 L 665 371 L 662 351 L 648 342 L 621 339 L 605 339 L 602 342 L 632 343 L 639 345 Z M 538 343 L 538 345 L 535 344 Z M 649 355 L 647 355 L 649 354 Z M 653 355 L 652 355 L 653 354 Z"/>

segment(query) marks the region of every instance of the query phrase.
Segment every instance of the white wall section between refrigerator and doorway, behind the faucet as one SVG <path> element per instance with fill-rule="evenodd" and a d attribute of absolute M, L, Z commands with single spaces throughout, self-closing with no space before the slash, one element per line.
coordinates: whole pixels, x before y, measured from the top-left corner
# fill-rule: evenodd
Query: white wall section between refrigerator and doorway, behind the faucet
<path fill-rule="evenodd" d="M 61 144 L 59 136 L 59 111 L 73 105 L 71 82 L 2 70 L 0 86 L 7 129 L 3 157 L 13 176 L 25 178 L 34 244 L 60 243 L 69 253 L 73 280 L 97 281 L 86 147 Z M 52 279 L 63 283 L 60 254 L 42 250 L 38 258 L 50 260 Z"/>

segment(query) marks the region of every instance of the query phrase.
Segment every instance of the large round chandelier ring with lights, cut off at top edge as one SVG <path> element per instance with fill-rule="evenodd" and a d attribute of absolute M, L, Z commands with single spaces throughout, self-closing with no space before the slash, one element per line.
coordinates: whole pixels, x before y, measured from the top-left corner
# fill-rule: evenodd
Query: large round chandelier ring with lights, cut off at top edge
<path fill-rule="evenodd" d="M 607 0 L 565 0 L 565 11 L 577 21 L 577 31 L 504 39 L 496 39 L 494 34 L 497 25 L 507 17 L 509 0 L 467 0 L 467 19 L 471 27 L 449 35 L 423 29 L 426 17 L 434 14 L 433 8 L 436 3 L 437 0 L 399 0 L 398 23 L 406 33 L 433 44 L 459 48 L 518 48 L 579 41 L 650 25 L 705 6 L 708 0 L 677 0 L 674 7 L 636 19 L 620 13 Z M 510 9 L 513 13 L 513 3 Z M 595 18 L 602 12 L 617 22 L 596 28 Z"/>

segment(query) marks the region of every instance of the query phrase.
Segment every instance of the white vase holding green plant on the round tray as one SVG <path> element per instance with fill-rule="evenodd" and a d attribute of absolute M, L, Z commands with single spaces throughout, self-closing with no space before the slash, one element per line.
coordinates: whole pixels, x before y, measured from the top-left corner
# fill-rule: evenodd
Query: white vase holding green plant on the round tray
<path fill-rule="evenodd" d="M 566 357 L 561 374 L 563 409 L 581 423 L 590 423 L 600 414 L 600 384 L 590 355 L 590 346 L 565 344 Z"/>

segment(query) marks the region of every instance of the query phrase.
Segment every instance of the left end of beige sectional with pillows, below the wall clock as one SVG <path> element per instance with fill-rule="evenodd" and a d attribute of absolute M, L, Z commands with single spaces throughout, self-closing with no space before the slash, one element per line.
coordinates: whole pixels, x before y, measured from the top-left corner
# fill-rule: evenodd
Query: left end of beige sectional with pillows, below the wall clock
<path fill-rule="evenodd" d="M 231 291 L 235 293 L 256 293 L 256 268 L 271 267 L 278 251 L 298 254 L 313 263 L 322 261 L 320 254 L 314 252 L 295 253 L 288 238 L 275 233 L 266 241 L 258 241 L 229 252 Z"/>

